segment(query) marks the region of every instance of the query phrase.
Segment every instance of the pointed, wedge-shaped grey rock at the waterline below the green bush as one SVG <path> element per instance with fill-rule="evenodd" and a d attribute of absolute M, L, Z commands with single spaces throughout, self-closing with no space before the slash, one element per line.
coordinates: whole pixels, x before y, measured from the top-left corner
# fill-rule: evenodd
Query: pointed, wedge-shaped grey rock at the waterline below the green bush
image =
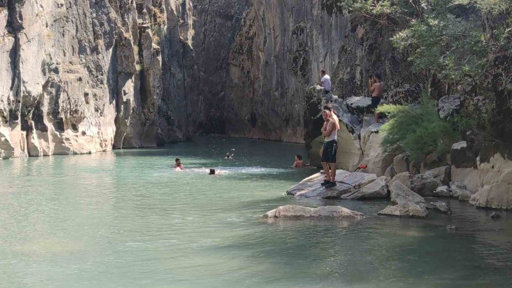
<path fill-rule="evenodd" d="M 414 193 L 402 183 L 396 181 L 391 184 L 391 203 L 378 214 L 401 217 L 425 217 L 429 214 L 426 210 L 426 203 L 423 197 Z"/>

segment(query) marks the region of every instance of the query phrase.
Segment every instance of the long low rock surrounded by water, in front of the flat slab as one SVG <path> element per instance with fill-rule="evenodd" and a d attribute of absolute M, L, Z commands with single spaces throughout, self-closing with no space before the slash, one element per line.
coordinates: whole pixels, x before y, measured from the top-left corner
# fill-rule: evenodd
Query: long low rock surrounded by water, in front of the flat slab
<path fill-rule="evenodd" d="M 342 206 L 321 206 L 308 208 L 303 206 L 286 205 L 268 211 L 265 218 L 363 218 L 365 215 Z"/>

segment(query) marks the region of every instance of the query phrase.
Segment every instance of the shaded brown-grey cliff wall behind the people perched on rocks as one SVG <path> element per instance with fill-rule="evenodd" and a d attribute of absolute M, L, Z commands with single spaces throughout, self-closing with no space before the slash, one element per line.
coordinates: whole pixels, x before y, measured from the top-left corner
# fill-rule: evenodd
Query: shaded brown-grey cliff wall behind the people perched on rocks
<path fill-rule="evenodd" d="M 337 11 L 333 1 L 253 0 L 229 58 L 227 134 L 303 143 L 304 88 L 321 69 L 342 98 L 367 95 L 375 72 L 386 95 L 409 87 L 409 64 L 389 41 L 393 31 L 378 27 Z"/>

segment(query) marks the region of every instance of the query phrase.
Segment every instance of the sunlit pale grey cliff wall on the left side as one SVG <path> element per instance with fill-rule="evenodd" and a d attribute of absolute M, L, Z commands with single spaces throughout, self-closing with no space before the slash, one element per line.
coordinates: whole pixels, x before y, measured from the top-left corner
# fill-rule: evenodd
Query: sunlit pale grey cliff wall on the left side
<path fill-rule="evenodd" d="M 186 139 L 190 1 L 0 1 L 0 140 L 13 156 Z M 190 93 L 190 95 L 195 95 Z M 197 94 L 196 94 L 197 95 Z"/>

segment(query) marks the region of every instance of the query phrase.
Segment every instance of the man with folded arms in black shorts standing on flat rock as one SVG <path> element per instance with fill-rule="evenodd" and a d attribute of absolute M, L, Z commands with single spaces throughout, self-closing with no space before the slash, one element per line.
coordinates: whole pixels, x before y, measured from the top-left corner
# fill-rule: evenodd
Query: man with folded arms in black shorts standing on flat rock
<path fill-rule="evenodd" d="M 321 185 L 325 186 L 325 188 L 331 188 L 336 186 L 336 152 L 338 151 L 337 136 L 339 123 L 333 121 L 331 112 L 327 109 L 322 112 L 322 117 L 328 124 L 322 128 L 322 136 L 325 137 L 322 151 L 322 167 L 324 167 L 326 180 Z"/>

